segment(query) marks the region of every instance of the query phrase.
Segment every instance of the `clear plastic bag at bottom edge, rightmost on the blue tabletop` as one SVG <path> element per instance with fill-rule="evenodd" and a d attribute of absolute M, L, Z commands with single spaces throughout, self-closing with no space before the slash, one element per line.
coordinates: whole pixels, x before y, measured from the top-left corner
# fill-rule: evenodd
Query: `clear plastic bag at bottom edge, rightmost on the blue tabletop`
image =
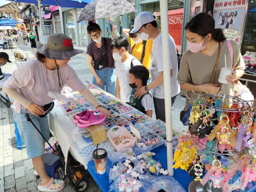
<path fill-rule="evenodd" d="M 186 192 L 182 185 L 172 176 L 141 175 L 139 179 L 146 192 L 156 192 L 160 189 L 168 192 Z"/>

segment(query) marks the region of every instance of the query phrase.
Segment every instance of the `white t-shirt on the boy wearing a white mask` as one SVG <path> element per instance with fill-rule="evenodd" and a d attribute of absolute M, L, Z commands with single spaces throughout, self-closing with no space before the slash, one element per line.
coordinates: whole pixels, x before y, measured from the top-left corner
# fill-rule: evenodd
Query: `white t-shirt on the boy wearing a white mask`
<path fill-rule="evenodd" d="M 132 61 L 133 59 L 133 61 Z M 129 71 L 131 68 L 131 61 L 133 63 L 133 66 L 135 65 L 141 65 L 140 61 L 130 55 L 129 59 L 122 63 L 122 61 L 116 61 L 116 76 L 119 80 L 120 85 L 120 96 L 122 101 L 129 102 L 130 103 L 130 96 L 132 93 L 132 88 L 129 86 Z"/>

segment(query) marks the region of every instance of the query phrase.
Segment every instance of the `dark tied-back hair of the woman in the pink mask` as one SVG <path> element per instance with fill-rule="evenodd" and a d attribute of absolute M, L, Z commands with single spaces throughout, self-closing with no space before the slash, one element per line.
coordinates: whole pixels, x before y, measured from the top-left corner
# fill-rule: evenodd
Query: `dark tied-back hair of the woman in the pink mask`
<path fill-rule="evenodd" d="M 214 19 L 207 13 L 200 13 L 193 17 L 185 26 L 185 30 L 191 33 L 196 33 L 205 37 L 209 33 L 212 34 L 212 39 L 221 42 L 226 40 L 221 29 L 215 29 Z"/>

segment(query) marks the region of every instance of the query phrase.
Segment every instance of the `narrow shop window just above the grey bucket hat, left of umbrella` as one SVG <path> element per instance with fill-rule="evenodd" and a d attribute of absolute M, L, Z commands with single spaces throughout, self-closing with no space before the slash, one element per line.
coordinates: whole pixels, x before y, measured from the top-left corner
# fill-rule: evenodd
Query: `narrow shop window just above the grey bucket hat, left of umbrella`
<path fill-rule="evenodd" d="M 74 16 L 75 16 L 75 9 L 72 9 L 64 13 L 65 33 L 68 37 L 72 38 L 73 44 L 76 44 Z"/>

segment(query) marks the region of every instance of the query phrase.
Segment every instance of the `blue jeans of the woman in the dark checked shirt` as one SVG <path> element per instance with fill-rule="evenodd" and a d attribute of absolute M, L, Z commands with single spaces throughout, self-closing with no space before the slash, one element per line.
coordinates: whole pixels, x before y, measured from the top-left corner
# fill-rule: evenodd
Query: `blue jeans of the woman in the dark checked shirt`
<path fill-rule="evenodd" d="M 97 73 L 98 77 L 102 80 L 102 85 L 97 85 L 96 79 L 93 76 L 93 84 L 97 87 L 100 87 L 100 89 L 103 89 L 105 91 L 105 86 L 106 86 L 106 91 L 107 93 L 112 94 L 113 96 L 116 96 L 116 69 L 115 68 L 109 68 L 105 67 L 100 70 L 96 70 L 95 72 Z"/>

